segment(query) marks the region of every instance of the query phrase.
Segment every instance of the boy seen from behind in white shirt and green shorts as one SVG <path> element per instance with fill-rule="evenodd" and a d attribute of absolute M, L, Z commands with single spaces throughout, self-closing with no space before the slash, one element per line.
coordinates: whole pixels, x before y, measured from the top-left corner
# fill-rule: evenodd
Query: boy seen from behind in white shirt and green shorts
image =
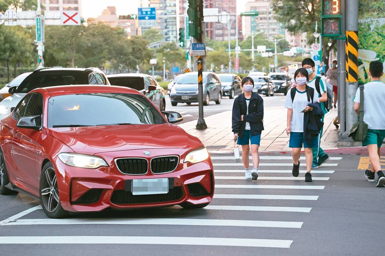
<path fill-rule="evenodd" d="M 385 138 L 385 84 L 380 81 L 383 76 L 383 64 L 378 60 L 369 64 L 370 82 L 363 89 L 363 121 L 368 125 L 367 135 L 362 141 L 362 146 L 367 146 L 369 151 L 370 169 L 365 170 L 368 181 L 375 182 L 377 173 L 377 187 L 385 185 L 385 176 L 381 170 L 380 147 Z M 360 114 L 360 88 L 357 89 L 353 99 L 354 110 Z"/>

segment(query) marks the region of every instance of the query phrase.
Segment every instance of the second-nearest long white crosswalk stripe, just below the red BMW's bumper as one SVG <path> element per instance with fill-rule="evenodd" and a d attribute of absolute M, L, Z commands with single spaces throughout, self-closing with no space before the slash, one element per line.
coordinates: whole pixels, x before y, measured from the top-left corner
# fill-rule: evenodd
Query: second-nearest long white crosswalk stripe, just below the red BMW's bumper
<path fill-rule="evenodd" d="M 296 221 L 252 221 L 241 219 L 18 219 L 10 225 L 66 225 L 66 224 L 119 224 L 119 225 L 186 225 L 186 226 L 238 226 L 264 228 L 301 228 L 303 222 Z"/>

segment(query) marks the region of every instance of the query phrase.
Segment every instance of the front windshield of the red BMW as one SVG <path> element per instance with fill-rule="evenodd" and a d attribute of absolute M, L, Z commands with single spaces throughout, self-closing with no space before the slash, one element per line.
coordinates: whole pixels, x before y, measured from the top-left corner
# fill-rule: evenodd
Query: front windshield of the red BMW
<path fill-rule="evenodd" d="M 85 93 L 49 99 L 48 127 L 167 123 L 144 95 Z"/>

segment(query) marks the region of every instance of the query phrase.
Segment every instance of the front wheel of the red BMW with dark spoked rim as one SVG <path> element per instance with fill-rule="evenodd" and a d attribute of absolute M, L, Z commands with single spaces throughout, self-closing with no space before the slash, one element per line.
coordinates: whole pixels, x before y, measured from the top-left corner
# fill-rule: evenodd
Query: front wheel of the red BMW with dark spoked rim
<path fill-rule="evenodd" d="M 60 219 L 67 216 L 68 212 L 63 209 L 60 203 L 56 172 L 50 162 L 46 163 L 43 167 L 39 188 L 40 202 L 42 203 L 44 213 L 52 219 Z"/>

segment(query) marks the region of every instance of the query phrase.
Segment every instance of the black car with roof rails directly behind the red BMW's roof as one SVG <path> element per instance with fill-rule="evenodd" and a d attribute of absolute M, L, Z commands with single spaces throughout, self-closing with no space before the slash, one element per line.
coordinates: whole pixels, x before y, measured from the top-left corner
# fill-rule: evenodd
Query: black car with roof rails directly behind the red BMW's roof
<path fill-rule="evenodd" d="M 0 120 L 9 116 L 13 108 L 29 91 L 57 85 L 109 85 L 99 68 L 39 68 L 28 75 L 19 86 L 9 88 L 12 96 L 0 102 Z"/>

